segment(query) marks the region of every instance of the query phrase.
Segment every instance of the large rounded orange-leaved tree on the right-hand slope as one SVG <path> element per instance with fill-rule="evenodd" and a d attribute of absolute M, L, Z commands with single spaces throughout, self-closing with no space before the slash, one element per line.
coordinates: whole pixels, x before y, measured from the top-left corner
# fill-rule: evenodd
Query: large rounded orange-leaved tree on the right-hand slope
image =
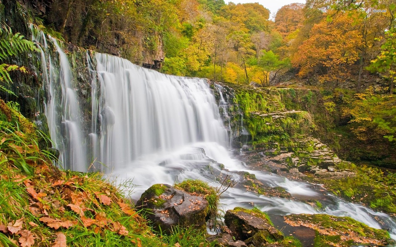
<path fill-rule="evenodd" d="M 347 76 L 347 66 L 358 60 L 357 47 L 362 45 L 361 34 L 352 23 L 348 15 L 337 15 L 331 21 L 323 19 L 315 24 L 310 37 L 292 57 L 299 76 L 314 77 L 322 83 L 336 81 L 336 85 Z"/>

